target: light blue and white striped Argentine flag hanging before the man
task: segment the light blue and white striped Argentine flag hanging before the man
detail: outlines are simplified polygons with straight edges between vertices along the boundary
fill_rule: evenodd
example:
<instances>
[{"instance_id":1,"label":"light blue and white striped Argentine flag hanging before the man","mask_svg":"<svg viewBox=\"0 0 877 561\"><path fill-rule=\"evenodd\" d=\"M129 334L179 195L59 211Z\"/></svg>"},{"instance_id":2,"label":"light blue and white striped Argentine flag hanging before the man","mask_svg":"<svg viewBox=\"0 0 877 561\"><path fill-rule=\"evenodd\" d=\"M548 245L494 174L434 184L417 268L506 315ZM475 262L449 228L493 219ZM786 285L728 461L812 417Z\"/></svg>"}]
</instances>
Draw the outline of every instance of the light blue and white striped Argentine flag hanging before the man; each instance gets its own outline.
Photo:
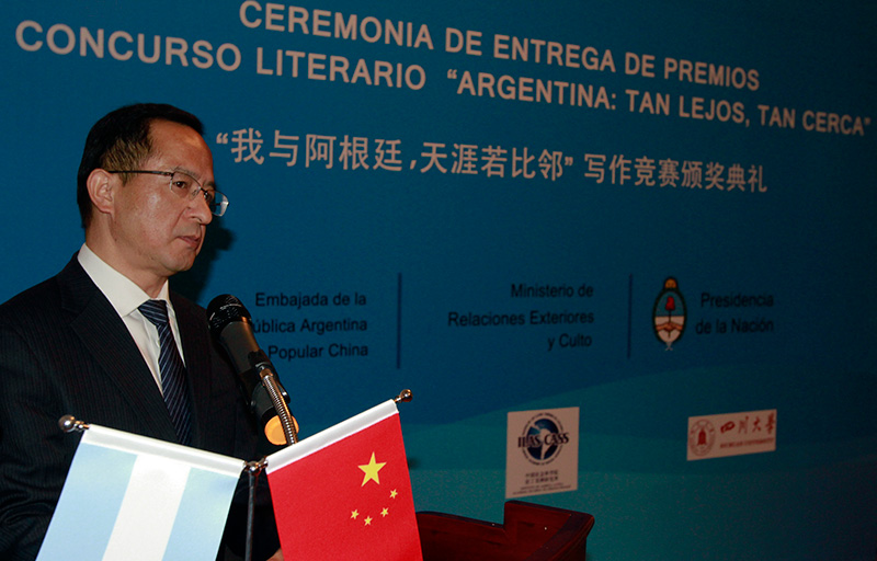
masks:
<instances>
[{"instance_id":1,"label":"light blue and white striped Argentine flag hanging before the man","mask_svg":"<svg viewBox=\"0 0 877 561\"><path fill-rule=\"evenodd\" d=\"M91 425L37 561L215 559L244 466Z\"/></svg>"}]
</instances>

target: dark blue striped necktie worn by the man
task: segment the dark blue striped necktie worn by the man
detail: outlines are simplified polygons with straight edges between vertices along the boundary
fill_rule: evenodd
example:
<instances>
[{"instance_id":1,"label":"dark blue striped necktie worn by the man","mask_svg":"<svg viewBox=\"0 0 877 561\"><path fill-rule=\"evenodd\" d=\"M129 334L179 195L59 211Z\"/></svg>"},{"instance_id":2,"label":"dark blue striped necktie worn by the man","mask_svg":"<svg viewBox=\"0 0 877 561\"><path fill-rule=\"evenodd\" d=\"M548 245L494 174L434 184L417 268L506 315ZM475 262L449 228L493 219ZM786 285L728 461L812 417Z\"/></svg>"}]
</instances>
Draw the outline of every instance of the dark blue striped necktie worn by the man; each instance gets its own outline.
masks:
<instances>
[{"instance_id":1,"label":"dark blue striped necktie worn by the man","mask_svg":"<svg viewBox=\"0 0 877 561\"><path fill-rule=\"evenodd\" d=\"M164 394L164 404L171 415L173 427L176 430L176 438L180 444L190 443L192 421L189 412L189 392L185 383L185 366L180 352L176 350L176 342L173 340L168 320L168 307L164 300L147 300L138 308L155 327L158 329L158 340L161 344L161 352L158 357L158 368L161 374L161 390Z\"/></svg>"}]
</instances>

